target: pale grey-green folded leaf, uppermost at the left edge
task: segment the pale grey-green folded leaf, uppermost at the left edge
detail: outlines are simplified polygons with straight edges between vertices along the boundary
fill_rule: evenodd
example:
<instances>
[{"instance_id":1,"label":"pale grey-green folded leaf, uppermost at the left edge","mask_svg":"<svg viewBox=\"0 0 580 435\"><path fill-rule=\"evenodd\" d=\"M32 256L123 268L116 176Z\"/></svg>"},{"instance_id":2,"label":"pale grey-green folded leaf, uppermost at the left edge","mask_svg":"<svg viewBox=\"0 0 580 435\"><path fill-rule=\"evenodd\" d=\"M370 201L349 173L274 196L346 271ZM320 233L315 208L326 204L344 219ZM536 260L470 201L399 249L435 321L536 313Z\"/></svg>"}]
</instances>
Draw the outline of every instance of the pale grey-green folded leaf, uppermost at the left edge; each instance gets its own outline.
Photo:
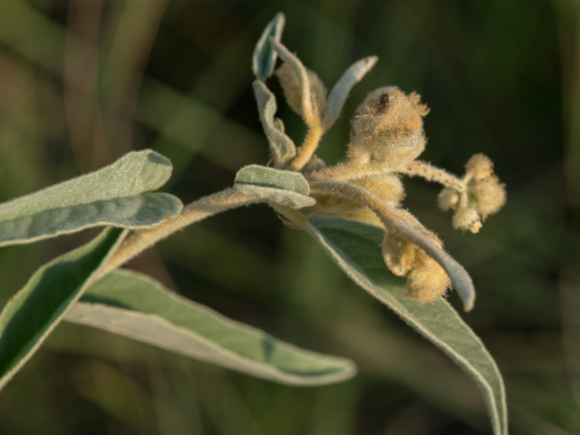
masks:
<instances>
[{"instance_id":1,"label":"pale grey-green folded leaf, uppermost at the left edge","mask_svg":"<svg viewBox=\"0 0 580 435\"><path fill-rule=\"evenodd\" d=\"M159 189L171 162L151 150L130 152L90 174L0 204L0 247L32 243L87 227L147 228L183 205Z\"/></svg>"}]
</instances>

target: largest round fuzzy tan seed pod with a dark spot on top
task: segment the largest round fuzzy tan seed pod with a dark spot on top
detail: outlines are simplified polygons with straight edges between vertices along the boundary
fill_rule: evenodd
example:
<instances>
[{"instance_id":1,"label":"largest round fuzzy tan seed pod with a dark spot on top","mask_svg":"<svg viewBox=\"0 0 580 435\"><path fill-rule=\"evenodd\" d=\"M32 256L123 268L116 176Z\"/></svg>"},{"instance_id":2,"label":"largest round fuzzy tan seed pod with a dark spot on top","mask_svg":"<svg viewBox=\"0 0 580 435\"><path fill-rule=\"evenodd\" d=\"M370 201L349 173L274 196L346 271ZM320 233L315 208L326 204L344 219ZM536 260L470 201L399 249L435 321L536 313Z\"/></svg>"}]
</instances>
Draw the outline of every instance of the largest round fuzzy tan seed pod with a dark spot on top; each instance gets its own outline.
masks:
<instances>
[{"instance_id":1,"label":"largest round fuzzy tan seed pod with a dark spot on top","mask_svg":"<svg viewBox=\"0 0 580 435\"><path fill-rule=\"evenodd\" d=\"M416 159L425 149L422 118L428 112L415 92L407 96L394 86L371 92L353 119L351 158L391 168Z\"/></svg>"}]
</instances>

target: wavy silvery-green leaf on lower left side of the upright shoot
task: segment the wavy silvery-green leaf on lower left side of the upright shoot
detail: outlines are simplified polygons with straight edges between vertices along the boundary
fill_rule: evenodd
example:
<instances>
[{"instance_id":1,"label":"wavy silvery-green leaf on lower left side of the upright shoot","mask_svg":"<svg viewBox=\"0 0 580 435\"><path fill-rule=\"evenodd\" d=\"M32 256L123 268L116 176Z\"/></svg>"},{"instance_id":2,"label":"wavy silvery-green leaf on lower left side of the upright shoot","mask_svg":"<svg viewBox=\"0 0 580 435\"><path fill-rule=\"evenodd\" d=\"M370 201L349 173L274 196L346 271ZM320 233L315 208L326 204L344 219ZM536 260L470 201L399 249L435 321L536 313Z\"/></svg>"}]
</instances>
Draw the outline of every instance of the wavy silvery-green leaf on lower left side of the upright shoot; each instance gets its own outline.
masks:
<instances>
[{"instance_id":1,"label":"wavy silvery-green leaf on lower left side of the upright shoot","mask_svg":"<svg viewBox=\"0 0 580 435\"><path fill-rule=\"evenodd\" d=\"M260 121L264 127L266 138L270 143L270 151L277 165L284 165L296 155L294 142L280 129L280 120L275 118L277 106L275 96L266 83L255 81L254 94L256 95L257 110L260 112ZM284 125L284 124L282 124Z\"/></svg>"}]
</instances>

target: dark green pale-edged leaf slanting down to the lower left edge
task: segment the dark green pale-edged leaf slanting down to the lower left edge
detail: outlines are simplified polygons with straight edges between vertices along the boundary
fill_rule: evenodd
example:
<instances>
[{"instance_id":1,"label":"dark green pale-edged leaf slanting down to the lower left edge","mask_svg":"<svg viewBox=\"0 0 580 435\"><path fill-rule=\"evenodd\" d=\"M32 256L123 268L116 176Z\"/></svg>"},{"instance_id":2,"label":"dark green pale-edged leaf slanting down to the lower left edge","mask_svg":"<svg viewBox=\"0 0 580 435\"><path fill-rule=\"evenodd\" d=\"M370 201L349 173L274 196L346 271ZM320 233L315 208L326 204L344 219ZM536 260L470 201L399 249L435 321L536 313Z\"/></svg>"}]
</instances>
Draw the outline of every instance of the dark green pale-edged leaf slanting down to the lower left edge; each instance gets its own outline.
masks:
<instances>
[{"instance_id":1,"label":"dark green pale-edged leaf slanting down to the lower left edge","mask_svg":"<svg viewBox=\"0 0 580 435\"><path fill-rule=\"evenodd\" d=\"M105 228L91 242L38 269L0 313L0 389L27 362L99 274L129 230Z\"/></svg>"}]
</instances>

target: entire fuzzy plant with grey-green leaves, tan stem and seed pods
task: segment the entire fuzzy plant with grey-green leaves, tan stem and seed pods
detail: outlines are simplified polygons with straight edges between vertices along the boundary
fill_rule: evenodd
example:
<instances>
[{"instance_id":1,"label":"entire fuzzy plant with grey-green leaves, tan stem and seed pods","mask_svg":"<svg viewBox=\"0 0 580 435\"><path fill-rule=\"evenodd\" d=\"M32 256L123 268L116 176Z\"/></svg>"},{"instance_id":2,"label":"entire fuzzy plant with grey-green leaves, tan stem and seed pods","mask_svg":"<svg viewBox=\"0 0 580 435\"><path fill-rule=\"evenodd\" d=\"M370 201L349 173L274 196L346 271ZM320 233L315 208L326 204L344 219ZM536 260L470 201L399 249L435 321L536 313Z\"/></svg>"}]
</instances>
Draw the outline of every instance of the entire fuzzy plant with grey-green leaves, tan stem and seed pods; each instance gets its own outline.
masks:
<instances>
[{"instance_id":1,"label":"entire fuzzy plant with grey-green leaves, tan stem and seed pods","mask_svg":"<svg viewBox=\"0 0 580 435\"><path fill-rule=\"evenodd\" d=\"M447 353L477 382L495 434L507 434L498 367L478 337L442 297L457 290L473 308L471 278L439 237L401 208L401 175L439 182L439 206L453 226L477 233L506 200L488 157L477 154L455 177L417 160L425 148L428 107L394 86L371 92L357 109L345 159L327 166L315 155L348 93L376 57L354 63L328 93L315 73L280 43L284 15L266 26L253 58L254 91L270 144L268 166L238 171L233 188L183 208L154 193L169 160L145 150L109 167L0 205L0 247L105 226L90 243L41 267L0 314L0 388L61 320L87 324L275 382L321 385L356 371L353 362L296 348L174 295L150 277L117 270L160 239L230 208L266 203L291 227L306 231L371 295ZM275 70L277 57L282 65ZM307 134L295 147L275 118L275 73Z\"/></svg>"}]
</instances>

